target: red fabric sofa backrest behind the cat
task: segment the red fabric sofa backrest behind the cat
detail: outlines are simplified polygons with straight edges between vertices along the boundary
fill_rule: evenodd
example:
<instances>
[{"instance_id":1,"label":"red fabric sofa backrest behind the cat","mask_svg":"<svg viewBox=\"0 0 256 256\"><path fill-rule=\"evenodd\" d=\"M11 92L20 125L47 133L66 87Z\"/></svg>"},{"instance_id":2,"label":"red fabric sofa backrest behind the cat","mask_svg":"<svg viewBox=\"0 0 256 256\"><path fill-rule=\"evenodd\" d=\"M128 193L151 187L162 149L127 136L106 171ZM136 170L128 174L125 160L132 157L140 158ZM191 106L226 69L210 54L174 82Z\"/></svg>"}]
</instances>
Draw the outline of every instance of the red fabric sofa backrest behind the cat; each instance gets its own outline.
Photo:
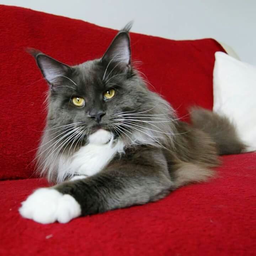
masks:
<instances>
[{"instance_id":1,"label":"red fabric sofa backrest behind the cat","mask_svg":"<svg viewBox=\"0 0 256 256\"><path fill-rule=\"evenodd\" d=\"M101 57L117 31L20 7L0 6L0 179L29 178L44 127L48 85L26 47L73 65ZM186 118L187 106L212 108L213 39L173 41L131 33L142 77ZM146 78L145 78L146 79Z\"/></svg>"}]
</instances>

